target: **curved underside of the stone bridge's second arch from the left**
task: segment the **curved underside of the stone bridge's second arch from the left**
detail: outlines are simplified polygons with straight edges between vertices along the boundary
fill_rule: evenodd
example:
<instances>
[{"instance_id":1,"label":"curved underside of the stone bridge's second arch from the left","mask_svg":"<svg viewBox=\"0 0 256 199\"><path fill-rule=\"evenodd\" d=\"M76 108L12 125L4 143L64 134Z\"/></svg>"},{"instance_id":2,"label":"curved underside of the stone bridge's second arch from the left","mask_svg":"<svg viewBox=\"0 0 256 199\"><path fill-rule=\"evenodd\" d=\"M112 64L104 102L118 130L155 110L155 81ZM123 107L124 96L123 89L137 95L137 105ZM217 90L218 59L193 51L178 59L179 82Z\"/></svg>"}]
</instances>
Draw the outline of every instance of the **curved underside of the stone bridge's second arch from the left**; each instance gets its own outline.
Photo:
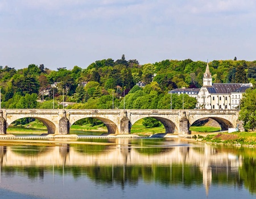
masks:
<instances>
[{"instance_id":1,"label":"curved underside of the stone bridge's second arch from the left","mask_svg":"<svg viewBox=\"0 0 256 199\"><path fill-rule=\"evenodd\" d=\"M108 129L108 134L115 134L117 132L117 125L110 119L108 118L103 118L103 117L97 117L97 116L84 116L84 117L77 117L76 119L72 119L72 121L69 121L70 123L70 127L77 121L79 121L80 119L85 119L85 118L93 118L93 119L98 119L101 122L104 123L104 125L106 125L107 129Z\"/></svg>"}]
</instances>

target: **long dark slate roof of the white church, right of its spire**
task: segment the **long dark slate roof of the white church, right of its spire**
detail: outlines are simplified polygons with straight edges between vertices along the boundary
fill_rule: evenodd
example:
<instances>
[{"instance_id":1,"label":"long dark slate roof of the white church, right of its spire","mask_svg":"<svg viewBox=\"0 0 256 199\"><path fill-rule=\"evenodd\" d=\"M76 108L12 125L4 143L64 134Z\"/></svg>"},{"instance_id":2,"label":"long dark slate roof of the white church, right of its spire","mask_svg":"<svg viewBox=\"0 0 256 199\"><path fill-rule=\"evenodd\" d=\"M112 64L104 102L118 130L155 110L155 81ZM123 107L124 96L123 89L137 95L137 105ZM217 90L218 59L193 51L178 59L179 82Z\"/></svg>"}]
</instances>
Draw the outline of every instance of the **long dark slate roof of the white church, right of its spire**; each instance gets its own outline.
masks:
<instances>
[{"instance_id":1,"label":"long dark slate roof of the white church, right of its spire","mask_svg":"<svg viewBox=\"0 0 256 199\"><path fill-rule=\"evenodd\" d=\"M213 84L207 87L209 93L245 93L250 88L249 84Z\"/></svg>"}]
</instances>

